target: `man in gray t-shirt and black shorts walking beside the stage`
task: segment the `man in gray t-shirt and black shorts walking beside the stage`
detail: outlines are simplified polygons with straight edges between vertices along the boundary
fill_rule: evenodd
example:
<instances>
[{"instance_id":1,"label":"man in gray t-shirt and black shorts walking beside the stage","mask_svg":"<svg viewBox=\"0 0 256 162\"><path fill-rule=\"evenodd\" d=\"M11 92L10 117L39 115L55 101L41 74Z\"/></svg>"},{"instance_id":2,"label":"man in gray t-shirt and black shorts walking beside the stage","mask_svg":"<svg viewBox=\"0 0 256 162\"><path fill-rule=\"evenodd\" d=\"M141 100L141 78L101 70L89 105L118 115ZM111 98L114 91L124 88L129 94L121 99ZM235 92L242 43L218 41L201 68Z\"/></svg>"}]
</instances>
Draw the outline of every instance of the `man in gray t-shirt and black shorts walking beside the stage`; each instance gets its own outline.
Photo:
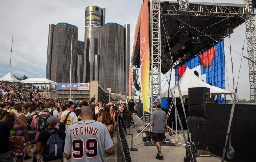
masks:
<instances>
[{"instance_id":1,"label":"man in gray t-shirt and black shorts walking beside the stage","mask_svg":"<svg viewBox=\"0 0 256 162\"><path fill-rule=\"evenodd\" d=\"M150 125L149 132L153 132L155 138L153 139L155 145L157 146L157 156L156 159L163 160L163 155L161 152L161 145L165 132L168 132L167 127L167 116L166 113L161 110L161 103L158 102L155 104L156 110L154 110L150 115ZM153 128L151 128L153 125Z\"/></svg>"}]
</instances>

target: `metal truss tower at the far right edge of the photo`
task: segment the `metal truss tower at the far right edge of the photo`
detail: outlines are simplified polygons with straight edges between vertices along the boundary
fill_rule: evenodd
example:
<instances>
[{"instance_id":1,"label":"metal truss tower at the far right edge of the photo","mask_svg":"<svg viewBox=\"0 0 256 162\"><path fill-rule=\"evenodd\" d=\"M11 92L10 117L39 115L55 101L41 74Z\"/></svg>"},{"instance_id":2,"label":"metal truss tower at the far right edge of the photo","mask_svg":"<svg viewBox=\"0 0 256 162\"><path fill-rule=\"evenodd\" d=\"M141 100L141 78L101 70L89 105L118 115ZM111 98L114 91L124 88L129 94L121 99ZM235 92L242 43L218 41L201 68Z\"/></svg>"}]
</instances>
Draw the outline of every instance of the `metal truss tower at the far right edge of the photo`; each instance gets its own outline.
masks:
<instances>
[{"instance_id":1,"label":"metal truss tower at the far right edge of the photo","mask_svg":"<svg viewBox=\"0 0 256 162\"><path fill-rule=\"evenodd\" d=\"M252 0L244 0L248 8L248 19L245 22L246 40L247 40L247 53L248 58L256 62L256 35L255 35L255 8L252 6ZM255 70L256 64L248 60L249 64L249 84L251 103L256 103L256 78Z\"/></svg>"}]
</instances>

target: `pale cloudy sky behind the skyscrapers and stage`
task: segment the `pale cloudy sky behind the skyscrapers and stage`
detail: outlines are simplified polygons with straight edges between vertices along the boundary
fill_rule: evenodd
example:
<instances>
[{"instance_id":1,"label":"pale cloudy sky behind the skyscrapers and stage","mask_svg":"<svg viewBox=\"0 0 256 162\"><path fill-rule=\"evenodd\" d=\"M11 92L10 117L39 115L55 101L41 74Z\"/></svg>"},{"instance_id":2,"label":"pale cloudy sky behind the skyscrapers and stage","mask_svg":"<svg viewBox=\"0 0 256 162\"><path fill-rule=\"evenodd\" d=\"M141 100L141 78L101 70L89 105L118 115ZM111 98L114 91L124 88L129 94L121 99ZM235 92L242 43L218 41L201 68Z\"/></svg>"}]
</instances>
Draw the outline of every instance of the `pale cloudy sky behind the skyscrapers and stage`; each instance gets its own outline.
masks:
<instances>
[{"instance_id":1,"label":"pale cloudy sky behind the skyscrapers and stage","mask_svg":"<svg viewBox=\"0 0 256 162\"><path fill-rule=\"evenodd\" d=\"M196 0L194 0L196 1ZM201 0L201 2L214 2ZM217 0L217 2L221 2ZM243 0L226 0L225 3L243 3ZM54 0L54 1L5 1L0 0L0 77L9 71L11 36L14 35L11 72L16 76L45 77L48 27L50 23L66 22L78 27L78 40L84 39L85 8L90 5L106 8L106 23L129 23L130 51L132 52L134 29L141 0ZM242 54L245 37L245 24L234 30L231 36L231 48ZM224 44L229 46L226 38ZM247 47L243 52L247 56ZM241 56L232 52L235 85L237 83ZM227 78L230 89L233 88L230 50L225 47ZM164 78L164 76L162 76ZM163 84L165 80L163 80ZM171 87L174 80L171 81ZM232 88L231 88L232 87ZM167 84L162 86L167 90ZM238 83L238 98L250 99L248 61L242 59Z\"/></svg>"}]
</instances>

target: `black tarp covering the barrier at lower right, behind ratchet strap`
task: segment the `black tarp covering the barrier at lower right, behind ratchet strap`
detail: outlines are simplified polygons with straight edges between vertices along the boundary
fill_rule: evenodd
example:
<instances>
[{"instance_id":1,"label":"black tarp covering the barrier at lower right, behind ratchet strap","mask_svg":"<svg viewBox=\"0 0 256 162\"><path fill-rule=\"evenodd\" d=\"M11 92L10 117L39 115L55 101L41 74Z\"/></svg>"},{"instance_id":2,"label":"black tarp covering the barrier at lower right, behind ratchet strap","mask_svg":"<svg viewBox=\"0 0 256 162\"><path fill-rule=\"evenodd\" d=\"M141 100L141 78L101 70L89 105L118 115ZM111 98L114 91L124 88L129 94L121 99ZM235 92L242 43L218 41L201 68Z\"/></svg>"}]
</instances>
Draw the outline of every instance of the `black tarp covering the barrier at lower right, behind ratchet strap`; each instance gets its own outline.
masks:
<instances>
[{"instance_id":1,"label":"black tarp covering the barrier at lower right, behind ratchet strap","mask_svg":"<svg viewBox=\"0 0 256 162\"><path fill-rule=\"evenodd\" d=\"M208 151L222 157L232 104L207 103ZM256 105L235 104L231 124L231 145L235 155L230 162L256 161ZM228 146L229 144L227 144Z\"/></svg>"}]
</instances>

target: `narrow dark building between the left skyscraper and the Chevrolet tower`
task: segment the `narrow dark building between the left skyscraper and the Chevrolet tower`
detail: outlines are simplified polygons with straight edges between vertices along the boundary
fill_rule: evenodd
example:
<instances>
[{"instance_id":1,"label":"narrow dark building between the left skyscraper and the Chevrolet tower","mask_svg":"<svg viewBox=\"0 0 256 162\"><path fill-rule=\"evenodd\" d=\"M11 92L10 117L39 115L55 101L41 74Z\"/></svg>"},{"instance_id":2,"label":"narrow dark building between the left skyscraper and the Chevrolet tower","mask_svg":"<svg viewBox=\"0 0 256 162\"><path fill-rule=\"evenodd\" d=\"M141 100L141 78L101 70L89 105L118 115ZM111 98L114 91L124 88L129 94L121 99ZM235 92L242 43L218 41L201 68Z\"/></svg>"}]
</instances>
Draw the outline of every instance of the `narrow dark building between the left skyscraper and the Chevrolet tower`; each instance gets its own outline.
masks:
<instances>
[{"instance_id":1,"label":"narrow dark building between the left skyscraper and the Chevrolet tower","mask_svg":"<svg viewBox=\"0 0 256 162\"><path fill-rule=\"evenodd\" d=\"M77 61L76 61L76 82L83 82L83 61L85 42L78 40Z\"/></svg>"}]
</instances>

